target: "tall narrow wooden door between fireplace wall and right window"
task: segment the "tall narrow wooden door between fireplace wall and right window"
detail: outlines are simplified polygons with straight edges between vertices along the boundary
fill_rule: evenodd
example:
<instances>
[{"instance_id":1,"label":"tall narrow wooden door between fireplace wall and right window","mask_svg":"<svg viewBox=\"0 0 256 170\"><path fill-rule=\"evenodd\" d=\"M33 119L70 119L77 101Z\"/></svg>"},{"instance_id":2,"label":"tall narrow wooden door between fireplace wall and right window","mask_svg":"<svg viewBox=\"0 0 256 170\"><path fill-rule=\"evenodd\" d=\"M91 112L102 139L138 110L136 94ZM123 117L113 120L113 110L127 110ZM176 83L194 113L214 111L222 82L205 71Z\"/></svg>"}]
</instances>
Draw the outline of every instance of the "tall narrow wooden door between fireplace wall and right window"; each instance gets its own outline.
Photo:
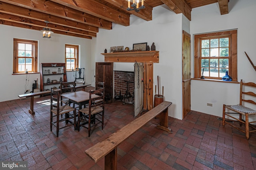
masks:
<instances>
[{"instance_id":1,"label":"tall narrow wooden door between fireplace wall and right window","mask_svg":"<svg viewBox=\"0 0 256 170\"><path fill-rule=\"evenodd\" d=\"M190 34L183 31L182 34L182 110L184 118L191 109L190 99Z\"/></svg>"}]
</instances>

